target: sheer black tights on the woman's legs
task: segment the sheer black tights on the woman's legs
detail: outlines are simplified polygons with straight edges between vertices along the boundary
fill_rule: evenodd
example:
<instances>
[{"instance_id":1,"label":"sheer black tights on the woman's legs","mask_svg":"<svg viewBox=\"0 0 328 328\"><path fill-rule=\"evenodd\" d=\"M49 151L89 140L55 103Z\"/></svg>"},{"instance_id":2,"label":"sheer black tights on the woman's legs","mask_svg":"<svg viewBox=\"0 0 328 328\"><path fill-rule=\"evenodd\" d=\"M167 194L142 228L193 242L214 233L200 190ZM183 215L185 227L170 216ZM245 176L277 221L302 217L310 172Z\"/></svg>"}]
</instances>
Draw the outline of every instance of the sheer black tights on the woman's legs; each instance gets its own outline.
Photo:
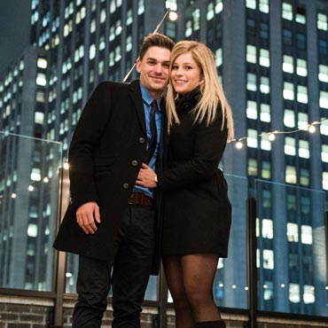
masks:
<instances>
[{"instance_id":1,"label":"sheer black tights on the woman's legs","mask_svg":"<svg viewBox=\"0 0 328 328\"><path fill-rule=\"evenodd\" d=\"M221 320L212 289L218 261L215 254L168 256L163 260L176 310L176 328Z\"/></svg>"}]
</instances>

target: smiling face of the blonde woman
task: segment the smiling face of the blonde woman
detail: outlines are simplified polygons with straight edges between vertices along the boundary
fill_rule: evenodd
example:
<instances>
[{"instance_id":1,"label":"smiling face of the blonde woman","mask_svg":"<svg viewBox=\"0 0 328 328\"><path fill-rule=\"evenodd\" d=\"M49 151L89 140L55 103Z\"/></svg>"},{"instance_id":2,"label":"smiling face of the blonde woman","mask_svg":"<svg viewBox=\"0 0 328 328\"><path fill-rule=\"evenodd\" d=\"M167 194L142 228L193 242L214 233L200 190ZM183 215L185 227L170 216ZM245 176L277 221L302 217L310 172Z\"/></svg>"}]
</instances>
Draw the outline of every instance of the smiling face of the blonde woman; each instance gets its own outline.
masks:
<instances>
[{"instance_id":1,"label":"smiling face of the blonde woman","mask_svg":"<svg viewBox=\"0 0 328 328\"><path fill-rule=\"evenodd\" d=\"M177 93L184 95L199 86L200 69L191 52L176 58L172 65L171 82Z\"/></svg>"}]
</instances>

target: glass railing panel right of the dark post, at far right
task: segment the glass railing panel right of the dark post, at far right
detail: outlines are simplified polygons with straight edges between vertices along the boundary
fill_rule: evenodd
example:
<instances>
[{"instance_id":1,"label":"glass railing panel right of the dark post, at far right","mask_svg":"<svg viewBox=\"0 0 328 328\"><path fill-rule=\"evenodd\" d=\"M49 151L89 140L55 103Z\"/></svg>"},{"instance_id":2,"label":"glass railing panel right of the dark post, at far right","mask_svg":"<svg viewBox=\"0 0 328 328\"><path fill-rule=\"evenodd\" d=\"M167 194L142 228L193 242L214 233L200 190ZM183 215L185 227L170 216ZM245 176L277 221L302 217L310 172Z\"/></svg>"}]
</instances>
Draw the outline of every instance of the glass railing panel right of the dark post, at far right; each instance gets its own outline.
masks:
<instances>
[{"instance_id":1,"label":"glass railing panel right of the dark post, at far right","mask_svg":"<svg viewBox=\"0 0 328 328\"><path fill-rule=\"evenodd\" d=\"M258 308L328 316L324 191L255 181Z\"/></svg>"}]
</instances>

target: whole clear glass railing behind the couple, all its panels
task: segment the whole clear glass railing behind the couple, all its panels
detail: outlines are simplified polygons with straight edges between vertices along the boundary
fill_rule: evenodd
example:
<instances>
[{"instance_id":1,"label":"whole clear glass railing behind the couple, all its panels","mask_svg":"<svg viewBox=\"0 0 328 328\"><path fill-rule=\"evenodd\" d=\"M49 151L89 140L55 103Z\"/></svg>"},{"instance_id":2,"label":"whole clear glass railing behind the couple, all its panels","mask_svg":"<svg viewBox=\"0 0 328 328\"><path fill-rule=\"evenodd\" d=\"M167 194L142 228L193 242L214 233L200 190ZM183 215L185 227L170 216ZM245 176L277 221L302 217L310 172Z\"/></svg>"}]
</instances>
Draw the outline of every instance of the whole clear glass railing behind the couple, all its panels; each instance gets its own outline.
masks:
<instances>
[{"instance_id":1,"label":"whole clear glass railing behind the couple, all its panels","mask_svg":"<svg viewBox=\"0 0 328 328\"><path fill-rule=\"evenodd\" d=\"M56 289L52 248L59 217L61 144L0 134L0 288ZM219 307L249 309L246 200L256 200L258 309L327 316L324 192L225 175L232 205L227 259L213 286ZM68 185L63 184L68 190ZM61 195L67 198L68 192ZM61 202L59 201L61 200ZM220 236L218 236L220 238ZM59 267L60 270L60 267ZM75 293L78 257L66 254L66 293ZM55 284L53 282L55 281ZM151 277L146 301L159 301ZM168 301L172 301L168 296Z\"/></svg>"}]
</instances>

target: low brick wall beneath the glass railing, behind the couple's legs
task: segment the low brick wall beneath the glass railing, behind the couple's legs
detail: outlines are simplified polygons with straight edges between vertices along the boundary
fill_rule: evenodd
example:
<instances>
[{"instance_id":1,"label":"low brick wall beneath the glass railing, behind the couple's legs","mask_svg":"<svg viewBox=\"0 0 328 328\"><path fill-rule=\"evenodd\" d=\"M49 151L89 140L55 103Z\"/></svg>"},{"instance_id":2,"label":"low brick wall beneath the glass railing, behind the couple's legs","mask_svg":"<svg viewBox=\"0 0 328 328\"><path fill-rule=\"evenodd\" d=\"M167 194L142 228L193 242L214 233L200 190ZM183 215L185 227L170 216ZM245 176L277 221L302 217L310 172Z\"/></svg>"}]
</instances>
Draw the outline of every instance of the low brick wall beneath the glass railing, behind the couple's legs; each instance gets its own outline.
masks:
<instances>
[{"instance_id":1,"label":"low brick wall beneath the glass railing, behind the couple's legs","mask_svg":"<svg viewBox=\"0 0 328 328\"><path fill-rule=\"evenodd\" d=\"M63 326L72 324L74 300L64 301ZM11 296L0 294L0 328L51 328L54 301L47 298ZM141 315L142 328L156 328L157 308L144 307ZM241 314L223 313L228 328L245 328L248 317ZM109 305L103 319L102 328L110 328L113 320ZM309 322L279 317L259 317L258 328L328 328L327 322ZM174 311L168 309L168 328L175 328Z\"/></svg>"}]
</instances>

